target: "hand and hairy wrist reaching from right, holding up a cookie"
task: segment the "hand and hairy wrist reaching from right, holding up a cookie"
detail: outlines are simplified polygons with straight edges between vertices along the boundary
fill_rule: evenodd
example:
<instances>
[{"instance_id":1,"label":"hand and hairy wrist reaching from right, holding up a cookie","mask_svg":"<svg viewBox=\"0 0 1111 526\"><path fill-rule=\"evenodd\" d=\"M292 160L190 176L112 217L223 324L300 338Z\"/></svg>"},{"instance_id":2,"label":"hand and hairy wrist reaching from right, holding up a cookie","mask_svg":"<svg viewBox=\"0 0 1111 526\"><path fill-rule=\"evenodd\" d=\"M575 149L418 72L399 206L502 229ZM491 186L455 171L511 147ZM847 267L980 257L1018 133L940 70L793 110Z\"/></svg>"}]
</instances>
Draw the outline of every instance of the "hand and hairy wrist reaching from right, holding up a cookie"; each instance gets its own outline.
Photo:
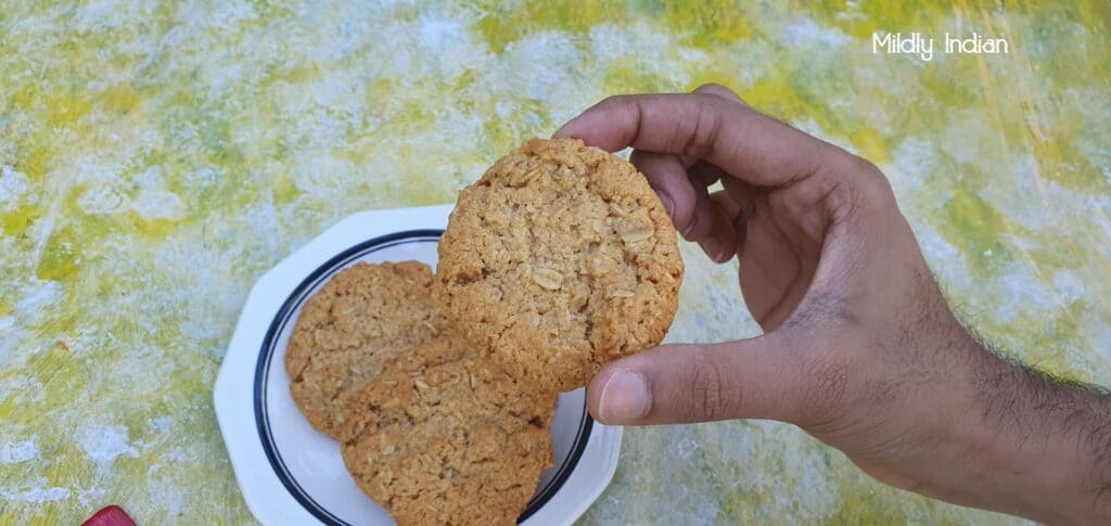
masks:
<instances>
[{"instance_id":1,"label":"hand and hairy wrist reaching from right, holding up a cookie","mask_svg":"<svg viewBox=\"0 0 1111 526\"><path fill-rule=\"evenodd\" d=\"M778 419L897 487L1043 520L1111 519L1111 403L982 348L871 163L720 85L610 98L556 135L632 146L682 235L717 262L739 257L764 331L609 364L588 387L595 418Z\"/></svg>"}]
</instances>

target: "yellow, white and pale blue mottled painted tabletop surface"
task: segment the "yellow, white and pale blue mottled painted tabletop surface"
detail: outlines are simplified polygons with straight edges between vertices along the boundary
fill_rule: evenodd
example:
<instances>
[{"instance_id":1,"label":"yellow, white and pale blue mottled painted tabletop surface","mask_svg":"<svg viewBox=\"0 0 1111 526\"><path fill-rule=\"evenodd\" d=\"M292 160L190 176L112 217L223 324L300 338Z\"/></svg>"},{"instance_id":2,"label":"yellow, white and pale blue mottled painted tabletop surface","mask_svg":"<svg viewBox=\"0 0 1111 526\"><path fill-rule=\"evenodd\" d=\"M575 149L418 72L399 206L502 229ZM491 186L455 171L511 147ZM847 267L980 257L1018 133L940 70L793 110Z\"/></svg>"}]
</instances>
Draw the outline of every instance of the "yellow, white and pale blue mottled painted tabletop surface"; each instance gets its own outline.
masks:
<instances>
[{"instance_id":1,"label":"yellow, white and pale blue mottled painted tabletop surface","mask_svg":"<svg viewBox=\"0 0 1111 526\"><path fill-rule=\"evenodd\" d=\"M1111 383L1104 1L40 3L0 1L0 523L250 522L211 387L258 275L352 212L452 201L607 94L705 81L883 168L989 341ZM1012 53L873 55L873 30ZM684 255L669 340L755 334L731 270ZM584 517L738 520L1011 519L759 422L629 429Z\"/></svg>"}]
</instances>

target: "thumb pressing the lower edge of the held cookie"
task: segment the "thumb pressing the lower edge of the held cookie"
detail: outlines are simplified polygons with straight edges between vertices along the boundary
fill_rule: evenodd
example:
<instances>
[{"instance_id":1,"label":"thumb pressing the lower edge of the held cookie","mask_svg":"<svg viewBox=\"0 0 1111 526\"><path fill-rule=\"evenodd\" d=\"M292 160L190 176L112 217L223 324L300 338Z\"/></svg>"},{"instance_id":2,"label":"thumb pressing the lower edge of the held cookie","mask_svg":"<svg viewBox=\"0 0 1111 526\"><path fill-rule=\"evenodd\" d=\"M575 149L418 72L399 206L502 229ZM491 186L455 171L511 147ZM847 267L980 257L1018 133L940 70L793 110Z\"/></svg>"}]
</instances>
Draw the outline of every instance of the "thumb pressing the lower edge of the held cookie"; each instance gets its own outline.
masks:
<instances>
[{"instance_id":1,"label":"thumb pressing the lower edge of the held cookie","mask_svg":"<svg viewBox=\"0 0 1111 526\"><path fill-rule=\"evenodd\" d=\"M603 424L769 418L803 408L801 353L781 332L711 345L663 345L608 364L587 387Z\"/></svg>"}]
</instances>

